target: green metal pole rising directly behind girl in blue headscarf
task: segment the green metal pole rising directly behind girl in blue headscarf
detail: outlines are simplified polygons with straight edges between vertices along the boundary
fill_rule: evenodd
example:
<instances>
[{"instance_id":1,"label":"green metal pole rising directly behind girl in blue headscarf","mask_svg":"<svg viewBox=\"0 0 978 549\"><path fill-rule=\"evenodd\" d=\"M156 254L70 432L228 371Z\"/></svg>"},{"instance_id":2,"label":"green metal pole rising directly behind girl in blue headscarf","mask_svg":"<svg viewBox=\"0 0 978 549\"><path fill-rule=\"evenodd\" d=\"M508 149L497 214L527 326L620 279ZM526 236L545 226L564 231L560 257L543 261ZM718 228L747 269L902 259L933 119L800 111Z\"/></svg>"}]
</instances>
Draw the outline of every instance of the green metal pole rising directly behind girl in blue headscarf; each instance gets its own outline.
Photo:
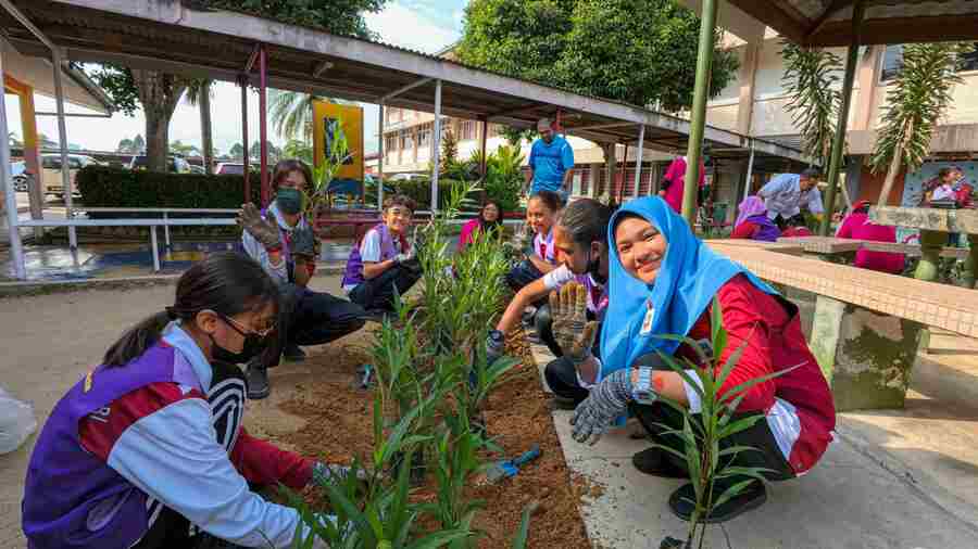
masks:
<instances>
[{"instance_id":1,"label":"green metal pole rising directly behind girl in blue headscarf","mask_svg":"<svg viewBox=\"0 0 978 549\"><path fill-rule=\"evenodd\" d=\"M686 178L682 188L682 217L690 227L697 218L697 191L700 181L700 155L703 152L703 126L706 124L706 95L713 64L713 29L718 0L703 0L700 13L700 48L697 52L697 84L689 120L689 146L686 150Z\"/></svg>"}]
</instances>

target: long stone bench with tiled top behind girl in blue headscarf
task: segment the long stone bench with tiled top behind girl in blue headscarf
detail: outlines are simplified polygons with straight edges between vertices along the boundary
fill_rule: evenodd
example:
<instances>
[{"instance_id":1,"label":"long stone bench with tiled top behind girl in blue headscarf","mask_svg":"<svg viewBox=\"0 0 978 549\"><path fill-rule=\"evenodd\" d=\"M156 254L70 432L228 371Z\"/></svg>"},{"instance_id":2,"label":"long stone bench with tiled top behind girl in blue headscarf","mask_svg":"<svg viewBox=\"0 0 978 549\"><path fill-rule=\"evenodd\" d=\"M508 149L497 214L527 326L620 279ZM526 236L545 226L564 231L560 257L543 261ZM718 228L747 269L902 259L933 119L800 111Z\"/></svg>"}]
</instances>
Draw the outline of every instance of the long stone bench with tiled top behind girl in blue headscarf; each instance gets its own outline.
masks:
<instances>
[{"instance_id":1,"label":"long stone bench with tiled top behind girl in blue headscarf","mask_svg":"<svg viewBox=\"0 0 978 549\"><path fill-rule=\"evenodd\" d=\"M926 327L978 337L974 290L758 247L713 247L803 309L808 345L839 411L902 408Z\"/></svg>"}]
</instances>

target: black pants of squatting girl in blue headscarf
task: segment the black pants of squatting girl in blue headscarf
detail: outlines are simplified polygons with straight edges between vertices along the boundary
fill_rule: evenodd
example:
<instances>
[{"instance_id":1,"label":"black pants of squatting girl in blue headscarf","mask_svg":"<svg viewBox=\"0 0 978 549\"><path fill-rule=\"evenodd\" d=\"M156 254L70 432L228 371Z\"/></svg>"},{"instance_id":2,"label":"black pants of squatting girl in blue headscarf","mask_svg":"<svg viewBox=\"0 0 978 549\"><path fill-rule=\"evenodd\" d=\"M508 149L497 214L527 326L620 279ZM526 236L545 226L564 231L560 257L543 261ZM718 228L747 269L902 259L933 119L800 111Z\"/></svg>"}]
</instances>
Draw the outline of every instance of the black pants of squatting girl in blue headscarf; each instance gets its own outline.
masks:
<instances>
[{"instance_id":1,"label":"black pants of squatting girl in blue headscarf","mask_svg":"<svg viewBox=\"0 0 978 549\"><path fill-rule=\"evenodd\" d=\"M640 357L635 366L645 366L654 370L673 371L672 368L663 363L662 359L654 354ZM649 433L649 436L652 439L663 446L674 448L680 454L686 452L682 439L679 438L678 435L666 434L668 430L682 429L681 413L662 403L652 405L632 403L629 405L629 409L631 410L631 413L638 418L642 427L645 429L645 432ZM731 421L736 421L739 417L745 416L748 414L735 414ZM794 471L791 469L788 460L785 459L781 449L778 448L778 443L775 441L774 433L770 432L767 421L762 419L754 423L750 429L735 433L719 443L720 450L731 446L748 446L757 450L738 452L731 464L737 467L769 469L769 472L764 473L764 476L767 477L768 481L786 481L794 477ZM680 460L672 454L665 454L669 461L676 467L681 468L684 471L688 470L686 461ZM726 464L727 463L722 463L719 467Z\"/></svg>"}]
</instances>

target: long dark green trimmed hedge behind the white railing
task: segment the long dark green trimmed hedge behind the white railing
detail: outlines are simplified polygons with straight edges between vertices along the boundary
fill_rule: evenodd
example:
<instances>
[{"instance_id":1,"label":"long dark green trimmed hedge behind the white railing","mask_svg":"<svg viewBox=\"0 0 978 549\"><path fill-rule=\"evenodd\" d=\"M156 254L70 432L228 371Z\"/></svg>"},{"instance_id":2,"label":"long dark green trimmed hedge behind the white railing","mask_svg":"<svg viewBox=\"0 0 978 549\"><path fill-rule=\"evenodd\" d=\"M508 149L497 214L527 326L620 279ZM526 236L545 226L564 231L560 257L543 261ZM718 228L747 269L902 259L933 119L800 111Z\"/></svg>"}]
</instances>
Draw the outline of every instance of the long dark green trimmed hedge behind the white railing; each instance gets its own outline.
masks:
<instances>
[{"instance_id":1,"label":"long dark green trimmed hedge behind the white railing","mask_svg":"<svg viewBox=\"0 0 978 549\"><path fill-rule=\"evenodd\" d=\"M244 177L239 175L163 174L86 166L78 171L75 183L82 203L89 207L238 208L244 202ZM253 178L251 201L258 203L260 194L259 178ZM92 213L90 217L126 216Z\"/></svg>"}]
</instances>

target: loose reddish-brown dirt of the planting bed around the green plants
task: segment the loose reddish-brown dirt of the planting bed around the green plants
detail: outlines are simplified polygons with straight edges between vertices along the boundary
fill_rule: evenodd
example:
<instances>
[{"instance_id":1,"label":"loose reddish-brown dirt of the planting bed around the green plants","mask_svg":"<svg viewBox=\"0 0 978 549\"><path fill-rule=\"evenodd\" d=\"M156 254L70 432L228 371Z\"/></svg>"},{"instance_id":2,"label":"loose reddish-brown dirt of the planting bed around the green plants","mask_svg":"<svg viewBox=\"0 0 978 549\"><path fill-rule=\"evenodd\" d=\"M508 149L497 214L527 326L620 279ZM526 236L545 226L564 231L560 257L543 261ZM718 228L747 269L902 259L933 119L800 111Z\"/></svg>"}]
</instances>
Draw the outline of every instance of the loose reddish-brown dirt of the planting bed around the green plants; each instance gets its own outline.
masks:
<instances>
[{"instance_id":1,"label":"loose reddish-brown dirt of the planting bed around the green plants","mask_svg":"<svg viewBox=\"0 0 978 549\"><path fill-rule=\"evenodd\" d=\"M485 412L489 433L507 457L522 454L534 444L540 445L541 456L499 485L471 487L469 497L486 501L474 523L485 533L478 547L507 547L524 507L536 500L539 507L530 522L529 547L590 548L577 508L588 489L570 483L549 398L540 386L522 333L511 337L509 346L512 355L524 357L524 365L490 396ZM368 348L334 344L325 353L311 356L303 366L315 375L296 385L291 398L277 405L288 417L301 420L293 422L292 429L269 432L272 438L284 447L330 462L348 463L354 455L372 451L372 394L355 387L356 369L369 361ZM422 488L417 496L425 498L426 491ZM305 495L308 500L318 496L315 491Z\"/></svg>"}]
</instances>

